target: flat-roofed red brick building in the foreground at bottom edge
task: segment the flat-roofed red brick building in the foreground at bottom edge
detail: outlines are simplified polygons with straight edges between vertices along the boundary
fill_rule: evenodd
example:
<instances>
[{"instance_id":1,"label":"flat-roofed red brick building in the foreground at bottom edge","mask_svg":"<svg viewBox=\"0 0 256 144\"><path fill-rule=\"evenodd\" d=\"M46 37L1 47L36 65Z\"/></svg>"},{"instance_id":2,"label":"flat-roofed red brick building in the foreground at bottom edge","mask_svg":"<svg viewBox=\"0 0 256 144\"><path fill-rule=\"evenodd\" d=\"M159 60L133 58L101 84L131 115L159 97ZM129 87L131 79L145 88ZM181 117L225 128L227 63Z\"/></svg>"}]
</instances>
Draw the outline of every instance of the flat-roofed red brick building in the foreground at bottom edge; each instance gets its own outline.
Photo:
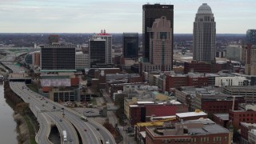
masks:
<instances>
[{"instance_id":1,"label":"flat-roofed red brick building in the foreground at bottom edge","mask_svg":"<svg viewBox=\"0 0 256 144\"><path fill-rule=\"evenodd\" d=\"M146 144L162 143L230 144L230 131L208 118L175 123L175 125L164 127L146 127Z\"/></svg>"}]
</instances>

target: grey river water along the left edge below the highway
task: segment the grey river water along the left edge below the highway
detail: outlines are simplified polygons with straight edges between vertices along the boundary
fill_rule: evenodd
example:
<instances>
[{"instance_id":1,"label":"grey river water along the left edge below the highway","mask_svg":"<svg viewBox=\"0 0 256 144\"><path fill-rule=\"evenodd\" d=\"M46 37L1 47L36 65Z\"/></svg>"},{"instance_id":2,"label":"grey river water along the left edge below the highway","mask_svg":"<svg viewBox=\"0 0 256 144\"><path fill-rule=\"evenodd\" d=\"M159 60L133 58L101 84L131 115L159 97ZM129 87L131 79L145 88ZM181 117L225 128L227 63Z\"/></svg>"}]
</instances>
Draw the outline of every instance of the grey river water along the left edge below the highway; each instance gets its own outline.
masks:
<instances>
[{"instance_id":1,"label":"grey river water along the left edge below the highway","mask_svg":"<svg viewBox=\"0 0 256 144\"><path fill-rule=\"evenodd\" d=\"M0 82L0 143L18 143L16 136L16 122L13 118L14 110L4 98L3 83Z\"/></svg>"}]
</instances>

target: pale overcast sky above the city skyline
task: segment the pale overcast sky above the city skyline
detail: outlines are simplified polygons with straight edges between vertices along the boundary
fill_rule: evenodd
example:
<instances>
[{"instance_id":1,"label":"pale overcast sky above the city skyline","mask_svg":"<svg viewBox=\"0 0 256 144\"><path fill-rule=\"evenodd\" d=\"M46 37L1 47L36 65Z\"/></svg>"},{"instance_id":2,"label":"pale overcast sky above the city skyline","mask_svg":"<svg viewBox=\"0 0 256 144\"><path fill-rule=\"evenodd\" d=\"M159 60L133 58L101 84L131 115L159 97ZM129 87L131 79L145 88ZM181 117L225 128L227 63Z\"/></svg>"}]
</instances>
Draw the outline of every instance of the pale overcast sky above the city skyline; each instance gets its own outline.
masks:
<instances>
[{"instance_id":1,"label":"pale overcast sky above the city skyline","mask_svg":"<svg viewBox=\"0 0 256 144\"><path fill-rule=\"evenodd\" d=\"M0 33L142 33L142 5L174 5L174 34L192 34L207 3L218 34L256 29L255 0L0 0Z\"/></svg>"}]
</instances>

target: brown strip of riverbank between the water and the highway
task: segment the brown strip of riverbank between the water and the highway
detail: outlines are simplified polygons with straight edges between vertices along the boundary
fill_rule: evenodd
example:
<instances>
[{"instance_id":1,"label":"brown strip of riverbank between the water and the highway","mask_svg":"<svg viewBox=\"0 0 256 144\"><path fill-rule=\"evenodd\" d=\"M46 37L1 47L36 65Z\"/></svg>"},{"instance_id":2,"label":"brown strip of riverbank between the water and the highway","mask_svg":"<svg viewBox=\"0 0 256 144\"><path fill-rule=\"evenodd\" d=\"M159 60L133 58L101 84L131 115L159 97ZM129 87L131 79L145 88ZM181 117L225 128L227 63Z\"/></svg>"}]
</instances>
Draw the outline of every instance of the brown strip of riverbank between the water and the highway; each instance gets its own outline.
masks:
<instances>
[{"instance_id":1,"label":"brown strip of riverbank between the water and the highway","mask_svg":"<svg viewBox=\"0 0 256 144\"><path fill-rule=\"evenodd\" d=\"M13 106L14 120L17 123L18 144L36 144L35 135L39 129L37 118L29 108L29 104L22 101L9 86L9 82L4 83L5 98Z\"/></svg>"}]
</instances>

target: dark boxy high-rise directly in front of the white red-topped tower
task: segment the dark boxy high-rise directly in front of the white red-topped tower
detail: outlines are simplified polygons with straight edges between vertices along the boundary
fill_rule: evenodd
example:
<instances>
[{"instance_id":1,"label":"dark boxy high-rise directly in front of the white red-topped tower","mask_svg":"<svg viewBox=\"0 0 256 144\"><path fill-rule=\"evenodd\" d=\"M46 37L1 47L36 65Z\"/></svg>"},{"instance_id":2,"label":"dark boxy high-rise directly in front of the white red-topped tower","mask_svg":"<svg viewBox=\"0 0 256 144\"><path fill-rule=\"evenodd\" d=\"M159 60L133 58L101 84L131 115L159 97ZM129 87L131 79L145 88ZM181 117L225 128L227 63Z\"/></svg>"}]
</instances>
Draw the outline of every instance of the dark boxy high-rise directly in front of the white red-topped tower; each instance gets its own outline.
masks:
<instances>
[{"instance_id":1,"label":"dark boxy high-rise directly in front of the white red-topped tower","mask_svg":"<svg viewBox=\"0 0 256 144\"><path fill-rule=\"evenodd\" d=\"M106 64L106 39L90 38L89 39L90 67L96 64Z\"/></svg>"}]
</instances>

